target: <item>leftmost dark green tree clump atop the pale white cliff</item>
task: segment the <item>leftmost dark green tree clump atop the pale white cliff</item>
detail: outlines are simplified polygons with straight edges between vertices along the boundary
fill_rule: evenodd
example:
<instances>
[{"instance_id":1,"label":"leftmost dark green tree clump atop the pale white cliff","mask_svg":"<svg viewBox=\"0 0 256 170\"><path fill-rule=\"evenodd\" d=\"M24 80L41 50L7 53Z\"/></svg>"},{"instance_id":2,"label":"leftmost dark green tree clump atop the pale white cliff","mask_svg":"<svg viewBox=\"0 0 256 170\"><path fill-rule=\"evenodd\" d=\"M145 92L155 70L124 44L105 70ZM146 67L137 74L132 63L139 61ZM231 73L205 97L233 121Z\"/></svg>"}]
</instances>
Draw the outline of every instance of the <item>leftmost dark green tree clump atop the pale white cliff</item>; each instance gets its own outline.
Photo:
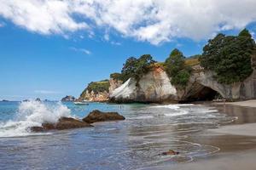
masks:
<instances>
[{"instance_id":1,"label":"leftmost dark green tree clump atop the pale white cliff","mask_svg":"<svg viewBox=\"0 0 256 170\"><path fill-rule=\"evenodd\" d=\"M154 63L155 61L150 54L144 54L139 59L135 57L126 59L121 71L122 80L125 82L130 77L134 77L138 81L143 74L149 71L150 65Z\"/></svg>"}]
</instances>

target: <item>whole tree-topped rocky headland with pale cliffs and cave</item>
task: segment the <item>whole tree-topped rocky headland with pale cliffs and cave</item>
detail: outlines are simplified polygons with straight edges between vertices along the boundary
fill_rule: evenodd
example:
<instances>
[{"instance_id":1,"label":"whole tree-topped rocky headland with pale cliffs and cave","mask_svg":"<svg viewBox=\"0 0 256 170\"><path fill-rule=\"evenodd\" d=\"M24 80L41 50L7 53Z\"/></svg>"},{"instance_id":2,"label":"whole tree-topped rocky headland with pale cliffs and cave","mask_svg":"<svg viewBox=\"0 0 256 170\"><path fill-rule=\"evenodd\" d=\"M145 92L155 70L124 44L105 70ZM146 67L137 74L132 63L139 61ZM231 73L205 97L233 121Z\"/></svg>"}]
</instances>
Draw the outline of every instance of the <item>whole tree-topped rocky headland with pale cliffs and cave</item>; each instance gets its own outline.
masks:
<instances>
[{"instance_id":1,"label":"whole tree-topped rocky headland with pale cliffs and cave","mask_svg":"<svg viewBox=\"0 0 256 170\"><path fill-rule=\"evenodd\" d=\"M218 34L202 54L188 58L177 48L165 62L155 61L150 54L130 57L121 73L90 82L79 100L162 103L255 99L255 47L244 29L238 36Z\"/></svg>"}]
</instances>

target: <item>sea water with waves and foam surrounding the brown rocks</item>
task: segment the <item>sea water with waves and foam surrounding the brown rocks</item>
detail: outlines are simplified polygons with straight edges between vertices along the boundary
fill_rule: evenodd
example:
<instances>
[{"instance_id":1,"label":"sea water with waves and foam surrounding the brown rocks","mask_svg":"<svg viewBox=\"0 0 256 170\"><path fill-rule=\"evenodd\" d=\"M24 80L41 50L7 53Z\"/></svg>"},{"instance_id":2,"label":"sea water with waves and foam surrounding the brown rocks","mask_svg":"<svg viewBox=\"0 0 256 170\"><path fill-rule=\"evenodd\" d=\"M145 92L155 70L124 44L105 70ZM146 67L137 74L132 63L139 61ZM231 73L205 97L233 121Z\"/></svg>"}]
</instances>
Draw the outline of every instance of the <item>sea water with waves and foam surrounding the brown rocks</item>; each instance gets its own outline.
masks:
<instances>
[{"instance_id":1,"label":"sea water with waves and foam surrounding the brown rocks","mask_svg":"<svg viewBox=\"0 0 256 170\"><path fill-rule=\"evenodd\" d=\"M83 118L90 111L118 111L125 121L101 122L49 133L27 127L60 116ZM147 169L211 156L216 146L195 144L189 135L234 117L204 105L73 105L60 102L0 102L1 169ZM178 156L159 156L166 150Z\"/></svg>"}]
</instances>

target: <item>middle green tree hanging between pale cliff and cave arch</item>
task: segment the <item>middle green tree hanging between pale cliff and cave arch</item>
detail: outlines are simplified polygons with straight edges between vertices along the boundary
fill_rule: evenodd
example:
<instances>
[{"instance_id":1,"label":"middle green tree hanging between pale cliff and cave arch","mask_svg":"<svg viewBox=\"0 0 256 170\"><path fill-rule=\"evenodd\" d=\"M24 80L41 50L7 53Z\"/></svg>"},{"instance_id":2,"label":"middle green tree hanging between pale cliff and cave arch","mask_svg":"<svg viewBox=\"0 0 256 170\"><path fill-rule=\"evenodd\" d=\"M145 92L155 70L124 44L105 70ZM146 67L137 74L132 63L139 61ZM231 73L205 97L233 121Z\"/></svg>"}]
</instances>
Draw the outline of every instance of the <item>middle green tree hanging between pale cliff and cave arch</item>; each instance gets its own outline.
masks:
<instances>
[{"instance_id":1,"label":"middle green tree hanging between pale cliff and cave arch","mask_svg":"<svg viewBox=\"0 0 256 170\"><path fill-rule=\"evenodd\" d=\"M190 67L185 65L185 57L177 48L173 49L165 62L165 70L177 88L185 88L189 82Z\"/></svg>"}]
</instances>

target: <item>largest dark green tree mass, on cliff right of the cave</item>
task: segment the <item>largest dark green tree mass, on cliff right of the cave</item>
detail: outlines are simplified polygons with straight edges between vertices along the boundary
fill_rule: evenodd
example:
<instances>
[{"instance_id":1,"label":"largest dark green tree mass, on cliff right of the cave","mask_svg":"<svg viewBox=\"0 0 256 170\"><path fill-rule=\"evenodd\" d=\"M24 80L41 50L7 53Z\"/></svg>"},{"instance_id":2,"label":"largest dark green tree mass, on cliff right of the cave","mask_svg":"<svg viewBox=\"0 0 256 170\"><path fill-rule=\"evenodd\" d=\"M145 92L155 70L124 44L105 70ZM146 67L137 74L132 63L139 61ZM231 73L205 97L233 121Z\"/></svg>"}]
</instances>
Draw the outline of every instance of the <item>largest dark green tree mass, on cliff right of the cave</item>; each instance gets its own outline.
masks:
<instances>
[{"instance_id":1,"label":"largest dark green tree mass, on cliff right of the cave","mask_svg":"<svg viewBox=\"0 0 256 170\"><path fill-rule=\"evenodd\" d=\"M255 42L247 29L237 37L218 34L209 40L200 57L201 66L214 71L218 82L230 84L252 73L251 56Z\"/></svg>"}]
</instances>

